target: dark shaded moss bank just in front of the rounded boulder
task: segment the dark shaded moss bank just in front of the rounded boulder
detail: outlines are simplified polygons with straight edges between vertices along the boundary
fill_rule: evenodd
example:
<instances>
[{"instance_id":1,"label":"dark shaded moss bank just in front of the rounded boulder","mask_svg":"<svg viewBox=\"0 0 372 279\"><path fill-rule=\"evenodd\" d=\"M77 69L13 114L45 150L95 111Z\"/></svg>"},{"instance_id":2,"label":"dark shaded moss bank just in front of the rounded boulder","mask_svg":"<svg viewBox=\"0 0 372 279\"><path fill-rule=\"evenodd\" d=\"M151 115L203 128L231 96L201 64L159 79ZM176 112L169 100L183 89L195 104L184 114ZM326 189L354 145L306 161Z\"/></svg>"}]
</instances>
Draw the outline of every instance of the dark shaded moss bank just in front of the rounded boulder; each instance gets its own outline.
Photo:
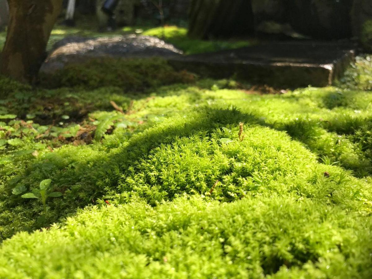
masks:
<instances>
[{"instance_id":1,"label":"dark shaded moss bank just in front of the rounded boulder","mask_svg":"<svg viewBox=\"0 0 372 279\"><path fill-rule=\"evenodd\" d=\"M192 74L185 71L176 72L160 58L96 58L84 63L68 64L62 70L41 76L41 86L78 86L85 89L116 86L121 87L123 91L136 92L149 87L193 80Z\"/></svg>"}]
</instances>

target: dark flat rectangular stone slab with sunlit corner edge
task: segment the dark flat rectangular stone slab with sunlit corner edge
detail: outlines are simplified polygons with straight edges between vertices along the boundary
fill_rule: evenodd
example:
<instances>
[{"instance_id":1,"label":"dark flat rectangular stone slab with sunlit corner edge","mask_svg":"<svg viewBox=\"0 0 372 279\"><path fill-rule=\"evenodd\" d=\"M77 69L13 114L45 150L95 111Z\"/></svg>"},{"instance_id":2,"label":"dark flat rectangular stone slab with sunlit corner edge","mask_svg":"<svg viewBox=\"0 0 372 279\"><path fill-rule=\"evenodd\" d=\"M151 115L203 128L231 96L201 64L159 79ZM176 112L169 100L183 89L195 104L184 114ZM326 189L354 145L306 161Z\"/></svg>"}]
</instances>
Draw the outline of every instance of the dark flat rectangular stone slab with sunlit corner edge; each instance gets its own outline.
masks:
<instances>
[{"instance_id":1,"label":"dark flat rectangular stone slab with sunlit corner edge","mask_svg":"<svg viewBox=\"0 0 372 279\"><path fill-rule=\"evenodd\" d=\"M172 57L177 70L204 77L231 76L278 87L323 87L342 76L355 58L354 45L329 42L267 42L252 47Z\"/></svg>"}]
</instances>

